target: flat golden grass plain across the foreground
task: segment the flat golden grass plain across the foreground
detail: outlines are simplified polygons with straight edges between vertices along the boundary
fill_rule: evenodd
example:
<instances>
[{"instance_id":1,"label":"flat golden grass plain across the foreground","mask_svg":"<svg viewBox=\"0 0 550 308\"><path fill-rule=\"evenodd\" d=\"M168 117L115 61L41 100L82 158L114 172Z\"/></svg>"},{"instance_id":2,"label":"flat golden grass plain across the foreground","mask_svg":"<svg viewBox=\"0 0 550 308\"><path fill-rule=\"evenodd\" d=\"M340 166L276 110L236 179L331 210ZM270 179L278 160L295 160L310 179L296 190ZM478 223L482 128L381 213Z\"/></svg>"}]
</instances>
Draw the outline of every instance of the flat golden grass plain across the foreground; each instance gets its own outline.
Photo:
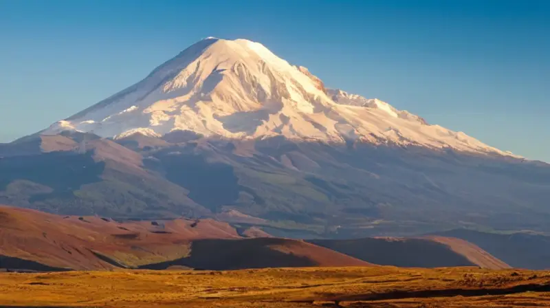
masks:
<instances>
[{"instance_id":1,"label":"flat golden grass plain across the foreground","mask_svg":"<svg viewBox=\"0 0 550 308\"><path fill-rule=\"evenodd\" d=\"M550 306L550 292L493 296L456 296L452 292L492 292L518 286L533 289L549 283L550 272L469 267L4 273L0 274L0 305L334 307L336 300L342 307L540 307ZM439 294L441 290L451 293Z\"/></svg>"}]
</instances>

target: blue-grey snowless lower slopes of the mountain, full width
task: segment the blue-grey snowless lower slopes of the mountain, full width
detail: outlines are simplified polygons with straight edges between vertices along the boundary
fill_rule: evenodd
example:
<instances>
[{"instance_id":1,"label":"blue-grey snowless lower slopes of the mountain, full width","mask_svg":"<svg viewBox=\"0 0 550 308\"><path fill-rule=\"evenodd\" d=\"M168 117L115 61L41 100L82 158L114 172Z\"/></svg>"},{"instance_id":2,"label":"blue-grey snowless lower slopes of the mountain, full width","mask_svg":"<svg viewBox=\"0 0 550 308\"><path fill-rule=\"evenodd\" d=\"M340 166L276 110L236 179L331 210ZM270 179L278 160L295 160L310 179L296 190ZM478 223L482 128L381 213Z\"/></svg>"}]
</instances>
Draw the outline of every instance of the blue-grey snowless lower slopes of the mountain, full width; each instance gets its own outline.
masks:
<instances>
[{"instance_id":1,"label":"blue-grey snowless lower slopes of the mountain, full width","mask_svg":"<svg viewBox=\"0 0 550 308\"><path fill-rule=\"evenodd\" d=\"M0 159L0 202L59 214L219 217L297 238L466 226L550 232L544 164L284 137L216 140L183 133L170 135L170 142L140 135L115 140L124 147L67 136L78 146L18 155L17 144L16 155ZM223 214L232 211L240 217Z\"/></svg>"}]
</instances>

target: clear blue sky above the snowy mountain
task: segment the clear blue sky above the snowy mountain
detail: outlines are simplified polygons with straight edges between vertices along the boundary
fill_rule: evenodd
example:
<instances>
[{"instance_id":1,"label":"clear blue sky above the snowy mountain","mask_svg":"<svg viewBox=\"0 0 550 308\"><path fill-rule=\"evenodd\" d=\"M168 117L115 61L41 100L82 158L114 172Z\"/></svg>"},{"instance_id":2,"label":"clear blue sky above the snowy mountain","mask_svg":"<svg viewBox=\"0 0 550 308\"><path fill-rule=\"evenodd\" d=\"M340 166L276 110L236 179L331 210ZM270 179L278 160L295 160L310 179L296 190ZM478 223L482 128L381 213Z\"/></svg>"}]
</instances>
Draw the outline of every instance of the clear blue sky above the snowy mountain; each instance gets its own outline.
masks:
<instances>
[{"instance_id":1,"label":"clear blue sky above the snowy mountain","mask_svg":"<svg viewBox=\"0 0 550 308\"><path fill-rule=\"evenodd\" d=\"M258 41L328 87L550 162L546 0L0 0L0 142L207 36Z\"/></svg>"}]
</instances>

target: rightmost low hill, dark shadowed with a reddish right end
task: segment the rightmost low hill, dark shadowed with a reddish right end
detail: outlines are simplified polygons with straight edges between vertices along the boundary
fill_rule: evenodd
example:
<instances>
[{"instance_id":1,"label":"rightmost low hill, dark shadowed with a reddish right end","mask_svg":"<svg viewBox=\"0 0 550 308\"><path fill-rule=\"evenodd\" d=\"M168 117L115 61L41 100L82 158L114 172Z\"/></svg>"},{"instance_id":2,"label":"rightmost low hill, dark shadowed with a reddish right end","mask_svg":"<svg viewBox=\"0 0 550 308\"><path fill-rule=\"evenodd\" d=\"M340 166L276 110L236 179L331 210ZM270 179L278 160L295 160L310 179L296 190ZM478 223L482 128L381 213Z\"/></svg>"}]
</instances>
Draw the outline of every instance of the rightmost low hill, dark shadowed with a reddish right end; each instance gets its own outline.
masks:
<instances>
[{"instance_id":1,"label":"rightmost low hill, dark shadowed with a reddish right end","mask_svg":"<svg viewBox=\"0 0 550 308\"><path fill-rule=\"evenodd\" d=\"M320 245L349 256L380 265L399 267L478 266L490 269L509 265L472 243L443 236L419 239L395 237L312 240Z\"/></svg>"}]
</instances>

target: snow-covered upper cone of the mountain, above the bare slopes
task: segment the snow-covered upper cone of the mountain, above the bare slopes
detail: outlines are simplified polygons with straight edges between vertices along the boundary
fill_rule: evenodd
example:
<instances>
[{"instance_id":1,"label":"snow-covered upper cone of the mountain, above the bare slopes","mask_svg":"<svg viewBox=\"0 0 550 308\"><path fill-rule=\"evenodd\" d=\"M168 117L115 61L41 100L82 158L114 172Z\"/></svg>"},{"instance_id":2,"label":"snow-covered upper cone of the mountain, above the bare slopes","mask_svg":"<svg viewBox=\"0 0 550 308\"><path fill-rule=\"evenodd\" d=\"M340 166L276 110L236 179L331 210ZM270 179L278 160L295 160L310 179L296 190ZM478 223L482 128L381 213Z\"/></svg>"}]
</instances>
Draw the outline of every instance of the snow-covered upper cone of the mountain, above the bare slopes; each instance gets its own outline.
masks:
<instances>
[{"instance_id":1,"label":"snow-covered upper cone of the mountain, above the bare slopes","mask_svg":"<svg viewBox=\"0 0 550 308\"><path fill-rule=\"evenodd\" d=\"M326 89L305 67L245 39L199 41L139 83L42 133L67 130L115 139L178 130L230 139L283 135L512 156L382 100Z\"/></svg>"}]
</instances>

